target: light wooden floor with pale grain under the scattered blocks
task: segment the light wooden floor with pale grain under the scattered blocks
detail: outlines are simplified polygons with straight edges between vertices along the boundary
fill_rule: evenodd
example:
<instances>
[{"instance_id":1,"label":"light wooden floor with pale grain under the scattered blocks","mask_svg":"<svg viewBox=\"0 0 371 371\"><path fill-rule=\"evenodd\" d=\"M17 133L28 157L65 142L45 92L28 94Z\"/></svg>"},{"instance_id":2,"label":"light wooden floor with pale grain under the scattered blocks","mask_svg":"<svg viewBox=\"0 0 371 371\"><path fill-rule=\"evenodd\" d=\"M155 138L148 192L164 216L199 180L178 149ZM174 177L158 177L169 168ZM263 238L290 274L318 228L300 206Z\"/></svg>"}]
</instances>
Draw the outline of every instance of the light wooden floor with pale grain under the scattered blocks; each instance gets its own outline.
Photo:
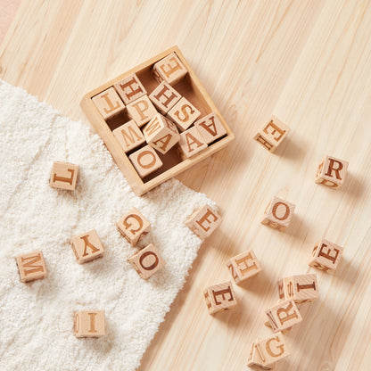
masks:
<instances>
[{"instance_id":1,"label":"light wooden floor with pale grain under the scattered blocks","mask_svg":"<svg viewBox=\"0 0 371 371\"><path fill-rule=\"evenodd\" d=\"M276 280L314 271L323 235L345 246L320 299L286 336L276 369L367 370L371 363L371 4L367 1L25 0L0 49L0 77L85 122L81 96L179 45L235 132L235 143L179 177L218 202L224 222L202 246L139 371L246 369L269 334ZM292 128L276 154L252 140L272 114ZM350 161L340 190L314 183L326 154ZM99 169L97 169L99 170ZM260 225L275 194L296 204L286 233ZM238 309L210 317L208 284L252 248L264 271L237 287Z\"/></svg>"}]
</instances>

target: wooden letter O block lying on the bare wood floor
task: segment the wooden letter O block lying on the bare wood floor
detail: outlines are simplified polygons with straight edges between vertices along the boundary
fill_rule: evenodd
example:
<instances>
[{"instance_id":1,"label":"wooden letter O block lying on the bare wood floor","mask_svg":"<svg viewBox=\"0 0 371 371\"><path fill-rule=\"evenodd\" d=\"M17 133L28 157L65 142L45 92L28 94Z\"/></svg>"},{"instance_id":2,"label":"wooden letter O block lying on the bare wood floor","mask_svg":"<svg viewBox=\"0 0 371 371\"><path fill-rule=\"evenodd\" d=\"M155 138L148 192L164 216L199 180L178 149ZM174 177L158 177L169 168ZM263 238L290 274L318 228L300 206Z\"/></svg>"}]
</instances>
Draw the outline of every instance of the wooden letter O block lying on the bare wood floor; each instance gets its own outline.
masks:
<instances>
[{"instance_id":1,"label":"wooden letter O block lying on the bare wood floor","mask_svg":"<svg viewBox=\"0 0 371 371\"><path fill-rule=\"evenodd\" d=\"M283 232L289 226L293 218L294 209L295 205L293 203L284 201L275 196L268 204L265 217L261 221L261 224Z\"/></svg>"}]
</instances>

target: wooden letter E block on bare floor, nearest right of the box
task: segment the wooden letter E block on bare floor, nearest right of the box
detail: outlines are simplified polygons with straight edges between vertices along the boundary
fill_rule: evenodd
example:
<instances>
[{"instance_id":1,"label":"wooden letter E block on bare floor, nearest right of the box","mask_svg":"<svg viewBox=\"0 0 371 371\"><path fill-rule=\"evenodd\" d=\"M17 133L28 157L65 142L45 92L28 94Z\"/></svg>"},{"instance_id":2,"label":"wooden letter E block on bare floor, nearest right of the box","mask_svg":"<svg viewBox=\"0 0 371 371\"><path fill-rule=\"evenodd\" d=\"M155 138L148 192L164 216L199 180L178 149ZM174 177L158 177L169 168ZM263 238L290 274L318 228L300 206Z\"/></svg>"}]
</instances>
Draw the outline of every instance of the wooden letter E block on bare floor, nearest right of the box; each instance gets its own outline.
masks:
<instances>
[{"instance_id":1,"label":"wooden letter E block on bare floor, nearest right of the box","mask_svg":"<svg viewBox=\"0 0 371 371\"><path fill-rule=\"evenodd\" d=\"M269 152L274 152L289 131L290 128L284 125L284 123L275 116L272 116L254 139Z\"/></svg>"}]
</instances>

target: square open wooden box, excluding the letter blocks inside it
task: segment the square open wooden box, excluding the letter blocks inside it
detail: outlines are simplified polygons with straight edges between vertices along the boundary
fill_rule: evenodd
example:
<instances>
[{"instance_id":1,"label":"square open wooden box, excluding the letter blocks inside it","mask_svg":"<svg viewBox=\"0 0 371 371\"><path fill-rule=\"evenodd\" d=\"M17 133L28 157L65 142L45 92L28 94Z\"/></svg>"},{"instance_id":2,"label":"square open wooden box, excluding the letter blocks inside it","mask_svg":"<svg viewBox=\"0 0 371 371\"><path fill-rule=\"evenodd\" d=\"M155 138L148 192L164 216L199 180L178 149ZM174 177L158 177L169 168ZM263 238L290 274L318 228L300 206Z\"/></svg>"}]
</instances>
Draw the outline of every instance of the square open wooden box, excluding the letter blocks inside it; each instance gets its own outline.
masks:
<instances>
[{"instance_id":1,"label":"square open wooden box, excluding the letter blocks inside it","mask_svg":"<svg viewBox=\"0 0 371 371\"><path fill-rule=\"evenodd\" d=\"M142 148L144 144L139 147L136 147L135 150L124 153L124 150L120 146L116 137L112 134L112 130L119 128L124 123L128 122L127 111L121 111L119 114L111 117L107 120L103 120L103 116L98 111L93 103L92 98L99 93L102 93L104 90L119 82L123 78L136 73L136 76L140 79L144 88L147 90L148 95L150 95L154 88L158 86L153 75L153 64L160 61L162 58L166 57L171 53L177 54L177 57L185 65L188 73L185 75L185 78L177 82L174 85L174 88L183 95L194 107L201 111L200 119L211 112L215 112L218 115L218 119L222 122L223 126L226 128L227 134L218 138L215 142L210 143L207 148L202 150L200 153L195 154L193 157L182 160L181 156L177 152L177 145L169 150L166 154L159 154L163 165L160 169L154 171L153 173L147 175L144 178L139 177L136 169L134 168L131 161L128 159L128 156L136 152L138 149ZM171 177L175 177L185 169L191 168L196 163L206 159L211 154L216 153L223 147L225 147L229 142L234 139L234 135L230 128L228 128L226 121L220 115L218 108L211 101L210 96L207 94L204 87L200 83L199 79L194 74L194 71L191 69L189 64L185 61L185 57L180 53L180 50L177 46L173 46L165 52L156 55L152 59L136 66L132 70L120 75L118 78L114 78L111 81L103 84L101 87L97 87L95 90L91 91L85 95L80 103L83 111L86 113L87 118L90 120L92 126L95 128L95 131L99 136L102 137L104 143L106 144L108 150L111 152L113 159L118 164L122 174L127 178L128 184L133 188L134 192L137 195L145 194L146 192L153 189L155 186L160 185L164 181L168 180Z\"/></svg>"}]
</instances>

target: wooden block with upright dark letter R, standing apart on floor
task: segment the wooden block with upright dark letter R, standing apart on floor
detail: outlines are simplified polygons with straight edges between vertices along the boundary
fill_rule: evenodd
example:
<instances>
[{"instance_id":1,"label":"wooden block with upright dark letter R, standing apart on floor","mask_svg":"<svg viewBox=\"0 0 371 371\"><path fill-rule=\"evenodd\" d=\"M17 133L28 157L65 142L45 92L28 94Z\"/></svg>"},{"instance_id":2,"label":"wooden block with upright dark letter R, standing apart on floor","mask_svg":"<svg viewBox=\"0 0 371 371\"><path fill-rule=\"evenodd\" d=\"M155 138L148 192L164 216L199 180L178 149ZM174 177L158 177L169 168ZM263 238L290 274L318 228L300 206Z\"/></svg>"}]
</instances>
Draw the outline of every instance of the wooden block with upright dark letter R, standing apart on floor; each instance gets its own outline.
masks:
<instances>
[{"instance_id":1,"label":"wooden block with upright dark letter R, standing apart on floor","mask_svg":"<svg viewBox=\"0 0 371 371\"><path fill-rule=\"evenodd\" d=\"M326 156L325 160L318 166L316 183L331 188L340 188L344 183L348 164L348 161Z\"/></svg>"}]
</instances>

